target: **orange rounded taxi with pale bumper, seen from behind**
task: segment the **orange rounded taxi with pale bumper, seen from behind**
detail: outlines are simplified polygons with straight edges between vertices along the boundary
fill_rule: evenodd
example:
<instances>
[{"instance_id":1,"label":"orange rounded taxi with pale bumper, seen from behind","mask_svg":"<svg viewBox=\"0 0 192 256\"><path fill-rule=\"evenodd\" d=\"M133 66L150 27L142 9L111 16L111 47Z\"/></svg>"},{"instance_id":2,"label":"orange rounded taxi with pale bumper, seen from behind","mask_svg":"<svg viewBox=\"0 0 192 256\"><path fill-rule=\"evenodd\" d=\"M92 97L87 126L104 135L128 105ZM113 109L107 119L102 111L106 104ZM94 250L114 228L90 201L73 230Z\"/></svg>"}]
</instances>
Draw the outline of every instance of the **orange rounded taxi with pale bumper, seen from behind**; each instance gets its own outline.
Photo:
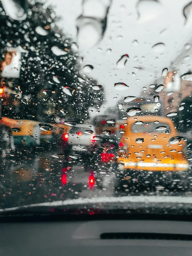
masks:
<instances>
[{"instance_id":1,"label":"orange rounded taxi with pale bumper, seen from behind","mask_svg":"<svg viewBox=\"0 0 192 256\"><path fill-rule=\"evenodd\" d=\"M189 164L185 141L167 117L134 116L126 119L118 147L119 169L184 171Z\"/></svg>"}]
</instances>

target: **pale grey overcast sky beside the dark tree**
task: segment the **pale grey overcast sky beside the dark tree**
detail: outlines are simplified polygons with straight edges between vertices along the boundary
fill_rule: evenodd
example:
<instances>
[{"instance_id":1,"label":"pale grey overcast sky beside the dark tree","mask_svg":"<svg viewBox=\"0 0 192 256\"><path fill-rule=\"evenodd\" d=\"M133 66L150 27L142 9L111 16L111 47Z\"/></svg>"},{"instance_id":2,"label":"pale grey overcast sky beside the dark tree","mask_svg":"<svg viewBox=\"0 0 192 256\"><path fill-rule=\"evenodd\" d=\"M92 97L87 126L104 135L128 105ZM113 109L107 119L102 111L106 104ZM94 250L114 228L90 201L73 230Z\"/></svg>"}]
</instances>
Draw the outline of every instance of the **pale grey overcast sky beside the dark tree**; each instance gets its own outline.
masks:
<instances>
[{"instance_id":1,"label":"pale grey overcast sky beside the dark tree","mask_svg":"<svg viewBox=\"0 0 192 256\"><path fill-rule=\"evenodd\" d=\"M82 14L82 0L49 2L62 17L59 26L76 42L76 19ZM91 48L79 49L79 55L84 58L82 67L92 65L94 69L89 76L105 88L104 106L107 107L115 104L113 97L117 94L118 99L122 96L139 96L143 86L154 83L155 77L160 76L162 69L169 68L171 61L176 59L191 37L192 12L186 24L183 16L183 7L189 0L142 0L139 5L138 2L113 0L103 39ZM93 10L90 9L90 13L91 11ZM90 34L87 33L86 36L85 40L89 40ZM137 45L133 44L134 40L138 41ZM160 52L152 48L157 43L165 44ZM111 52L107 51L108 49L111 49ZM116 62L123 54L128 54L129 60L125 68L119 69ZM188 62L190 63L190 58ZM143 70L137 70L136 67L143 67ZM133 76L132 72L136 76ZM129 88L126 91L115 90L114 83L118 82L124 82Z\"/></svg>"}]
</instances>

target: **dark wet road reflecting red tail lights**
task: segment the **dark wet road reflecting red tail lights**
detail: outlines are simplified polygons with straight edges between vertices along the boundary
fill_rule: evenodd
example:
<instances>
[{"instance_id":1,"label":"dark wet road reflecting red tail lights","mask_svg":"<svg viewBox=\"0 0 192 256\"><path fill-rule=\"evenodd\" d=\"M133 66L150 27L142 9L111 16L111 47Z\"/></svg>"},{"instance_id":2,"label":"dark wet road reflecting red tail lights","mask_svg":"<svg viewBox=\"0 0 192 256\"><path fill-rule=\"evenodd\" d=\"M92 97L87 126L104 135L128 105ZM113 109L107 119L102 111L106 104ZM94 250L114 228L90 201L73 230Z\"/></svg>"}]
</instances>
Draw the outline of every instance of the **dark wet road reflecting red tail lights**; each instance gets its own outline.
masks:
<instances>
[{"instance_id":1,"label":"dark wet road reflecting red tail lights","mask_svg":"<svg viewBox=\"0 0 192 256\"><path fill-rule=\"evenodd\" d=\"M144 173L145 181L139 183L141 175L136 176L135 173L129 175L118 171L115 164L105 166L99 161L91 161L89 157L83 161L83 159L66 159L61 153L56 154L55 151L44 149L33 153L27 150L20 151L2 160L0 208L80 197L192 195L190 170L182 173L182 176L179 174L180 178L168 177L167 179L171 181L169 188L162 183L162 177L152 180L147 173ZM118 182L122 180L124 183L121 182L119 186ZM134 186L130 185L130 180ZM149 186L151 183L155 190Z\"/></svg>"}]
</instances>

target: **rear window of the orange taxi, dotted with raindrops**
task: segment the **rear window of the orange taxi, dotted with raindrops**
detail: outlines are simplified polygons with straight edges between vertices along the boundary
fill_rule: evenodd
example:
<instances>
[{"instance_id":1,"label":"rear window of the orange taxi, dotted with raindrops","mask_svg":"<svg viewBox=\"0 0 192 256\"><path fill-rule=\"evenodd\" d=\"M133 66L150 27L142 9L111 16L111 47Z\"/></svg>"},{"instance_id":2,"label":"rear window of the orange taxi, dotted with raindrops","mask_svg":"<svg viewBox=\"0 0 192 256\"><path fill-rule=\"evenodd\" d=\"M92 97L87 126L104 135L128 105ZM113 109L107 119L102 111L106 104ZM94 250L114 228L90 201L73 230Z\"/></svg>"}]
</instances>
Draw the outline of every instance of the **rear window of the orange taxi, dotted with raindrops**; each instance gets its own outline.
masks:
<instances>
[{"instance_id":1,"label":"rear window of the orange taxi, dotted with raindrops","mask_svg":"<svg viewBox=\"0 0 192 256\"><path fill-rule=\"evenodd\" d=\"M132 133L171 133L171 127L163 122L134 122L131 126Z\"/></svg>"}]
</instances>

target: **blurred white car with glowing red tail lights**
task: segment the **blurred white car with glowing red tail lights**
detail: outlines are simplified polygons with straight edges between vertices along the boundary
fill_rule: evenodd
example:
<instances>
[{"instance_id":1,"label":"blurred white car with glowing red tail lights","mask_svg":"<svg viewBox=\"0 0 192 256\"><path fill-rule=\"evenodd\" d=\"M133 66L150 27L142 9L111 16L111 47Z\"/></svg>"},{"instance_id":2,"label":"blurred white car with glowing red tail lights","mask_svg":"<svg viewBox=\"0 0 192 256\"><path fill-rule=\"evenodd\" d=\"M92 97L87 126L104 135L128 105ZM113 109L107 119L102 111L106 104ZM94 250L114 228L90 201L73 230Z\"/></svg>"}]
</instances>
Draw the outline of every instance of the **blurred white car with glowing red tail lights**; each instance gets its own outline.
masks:
<instances>
[{"instance_id":1,"label":"blurred white car with glowing red tail lights","mask_svg":"<svg viewBox=\"0 0 192 256\"><path fill-rule=\"evenodd\" d=\"M63 135L64 151L69 153L93 154L97 147L95 127L93 125L77 124L71 126Z\"/></svg>"}]
</instances>

